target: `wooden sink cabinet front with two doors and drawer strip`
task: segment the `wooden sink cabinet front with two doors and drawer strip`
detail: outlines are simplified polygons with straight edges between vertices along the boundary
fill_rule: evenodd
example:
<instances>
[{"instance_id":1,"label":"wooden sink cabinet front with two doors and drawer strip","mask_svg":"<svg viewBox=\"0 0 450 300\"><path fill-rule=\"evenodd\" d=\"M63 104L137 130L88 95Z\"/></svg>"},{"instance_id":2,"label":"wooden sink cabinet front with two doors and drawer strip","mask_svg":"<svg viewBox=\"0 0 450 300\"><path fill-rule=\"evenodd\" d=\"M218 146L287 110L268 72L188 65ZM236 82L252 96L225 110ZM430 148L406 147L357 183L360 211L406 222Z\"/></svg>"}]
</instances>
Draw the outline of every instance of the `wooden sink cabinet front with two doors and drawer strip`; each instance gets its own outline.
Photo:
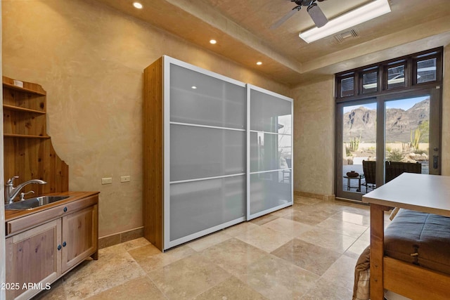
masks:
<instances>
[{"instance_id":1,"label":"wooden sink cabinet front with two doors and drawer strip","mask_svg":"<svg viewBox=\"0 0 450 300\"><path fill-rule=\"evenodd\" d=\"M6 222L6 299L29 299L89 256L98 258L98 195ZM34 284L24 289L24 284Z\"/></svg>"}]
</instances>

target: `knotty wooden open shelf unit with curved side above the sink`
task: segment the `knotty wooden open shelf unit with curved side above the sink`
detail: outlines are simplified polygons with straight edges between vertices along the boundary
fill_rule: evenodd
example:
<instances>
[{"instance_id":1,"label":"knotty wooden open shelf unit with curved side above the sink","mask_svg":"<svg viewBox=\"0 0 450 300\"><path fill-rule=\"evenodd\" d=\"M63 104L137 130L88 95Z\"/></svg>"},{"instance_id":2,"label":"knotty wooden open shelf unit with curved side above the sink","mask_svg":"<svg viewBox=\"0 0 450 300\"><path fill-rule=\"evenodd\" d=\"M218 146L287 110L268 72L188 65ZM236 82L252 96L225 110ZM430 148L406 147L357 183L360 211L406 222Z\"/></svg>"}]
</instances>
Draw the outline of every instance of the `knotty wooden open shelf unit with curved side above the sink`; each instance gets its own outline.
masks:
<instances>
[{"instance_id":1,"label":"knotty wooden open shelf unit with curved side above the sink","mask_svg":"<svg viewBox=\"0 0 450 300\"><path fill-rule=\"evenodd\" d=\"M69 189L69 168L46 133L46 91L39 84L3 77L4 178L19 176L15 185L41 179L45 185L27 185L34 196Z\"/></svg>"}]
</instances>

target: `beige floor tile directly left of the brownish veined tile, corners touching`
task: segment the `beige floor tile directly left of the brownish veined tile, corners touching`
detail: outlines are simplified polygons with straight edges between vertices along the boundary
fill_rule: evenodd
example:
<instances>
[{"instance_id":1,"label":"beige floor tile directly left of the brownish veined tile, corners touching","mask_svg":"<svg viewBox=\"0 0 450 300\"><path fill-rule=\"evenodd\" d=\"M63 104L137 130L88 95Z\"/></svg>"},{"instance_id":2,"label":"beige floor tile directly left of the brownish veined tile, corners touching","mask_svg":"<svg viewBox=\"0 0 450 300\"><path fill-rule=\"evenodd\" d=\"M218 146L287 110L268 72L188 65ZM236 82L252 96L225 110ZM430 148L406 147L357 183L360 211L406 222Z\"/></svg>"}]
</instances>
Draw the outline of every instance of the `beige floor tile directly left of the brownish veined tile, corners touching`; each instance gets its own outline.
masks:
<instances>
[{"instance_id":1,"label":"beige floor tile directly left of the brownish veined tile, corners touching","mask_svg":"<svg viewBox=\"0 0 450 300\"><path fill-rule=\"evenodd\" d=\"M265 251L236 238L216 244L200 254L233 275L244 273L252 263L269 256Z\"/></svg>"}]
</instances>

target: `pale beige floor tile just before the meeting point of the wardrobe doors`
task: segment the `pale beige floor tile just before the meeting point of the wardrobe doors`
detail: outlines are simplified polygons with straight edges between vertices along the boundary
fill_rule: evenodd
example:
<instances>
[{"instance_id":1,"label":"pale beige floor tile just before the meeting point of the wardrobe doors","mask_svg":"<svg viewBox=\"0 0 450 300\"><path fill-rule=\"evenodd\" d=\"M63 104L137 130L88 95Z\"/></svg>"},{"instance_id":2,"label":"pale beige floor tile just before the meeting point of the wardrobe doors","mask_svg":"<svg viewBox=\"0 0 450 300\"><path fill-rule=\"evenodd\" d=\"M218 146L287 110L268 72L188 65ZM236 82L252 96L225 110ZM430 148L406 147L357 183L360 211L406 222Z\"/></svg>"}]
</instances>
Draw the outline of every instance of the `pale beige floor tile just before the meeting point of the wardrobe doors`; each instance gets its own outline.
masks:
<instances>
[{"instance_id":1,"label":"pale beige floor tile just before the meeting point of the wardrobe doors","mask_svg":"<svg viewBox=\"0 0 450 300\"><path fill-rule=\"evenodd\" d=\"M282 244L292 240L292 237L289 235L259 226L241 235L237 235L236 238L266 252L272 252Z\"/></svg>"}]
</instances>

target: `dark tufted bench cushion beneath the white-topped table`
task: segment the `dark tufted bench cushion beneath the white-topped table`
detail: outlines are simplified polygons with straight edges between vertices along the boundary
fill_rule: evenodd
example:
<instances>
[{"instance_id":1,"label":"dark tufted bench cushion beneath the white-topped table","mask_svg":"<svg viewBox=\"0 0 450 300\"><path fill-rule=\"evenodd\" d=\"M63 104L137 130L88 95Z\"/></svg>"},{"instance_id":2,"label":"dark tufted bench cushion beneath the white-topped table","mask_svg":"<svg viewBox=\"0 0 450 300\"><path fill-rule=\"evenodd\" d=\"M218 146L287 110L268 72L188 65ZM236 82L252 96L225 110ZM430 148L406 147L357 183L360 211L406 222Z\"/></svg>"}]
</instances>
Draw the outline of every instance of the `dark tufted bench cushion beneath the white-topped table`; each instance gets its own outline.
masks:
<instances>
[{"instance_id":1,"label":"dark tufted bench cushion beneath the white-topped table","mask_svg":"<svg viewBox=\"0 0 450 300\"><path fill-rule=\"evenodd\" d=\"M385 255L450 275L450 218L400 209L385 230Z\"/></svg>"}]
</instances>

